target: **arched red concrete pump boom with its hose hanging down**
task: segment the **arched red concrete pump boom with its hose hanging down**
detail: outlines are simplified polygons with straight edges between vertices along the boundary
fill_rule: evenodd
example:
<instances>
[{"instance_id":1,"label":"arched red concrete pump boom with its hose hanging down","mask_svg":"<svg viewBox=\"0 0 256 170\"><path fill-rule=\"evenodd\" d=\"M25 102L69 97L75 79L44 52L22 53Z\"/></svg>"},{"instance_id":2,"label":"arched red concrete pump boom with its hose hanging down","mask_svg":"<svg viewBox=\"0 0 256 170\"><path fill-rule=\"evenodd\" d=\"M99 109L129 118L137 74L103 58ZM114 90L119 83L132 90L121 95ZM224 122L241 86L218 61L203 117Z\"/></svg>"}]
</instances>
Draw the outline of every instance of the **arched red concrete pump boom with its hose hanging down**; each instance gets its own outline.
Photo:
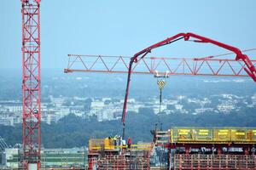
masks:
<instances>
[{"instance_id":1,"label":"arched red concrete pump boom with its hose hanging down","mask_svg":"<svg viewBox=\"0 0 256 170\"><path fill-rule=\"evenodd\" d=\"M244 70L247 72L249 77L253 78L253 81L256 82L256 70L252 63L252 61L247 57L246 54L242 54L241 50L239 48L232 47L230 45L224 44L222 42L217 42L215 40L212 40L207 37L201 37L199 35L196 35L194 33L179 33L173 37L168 37L166 40L163 40L161 42L157 42L148 48L144 48L142 51L138 52L137 54L134 54L134 56L131 58L128 68L128 77L127 77L127 84L126 84L126 90L125 90L125 101L124 101L124 107L123 107L123 114L122 114L122 123L123 123L123 138L125 138L125 116L126 116L126 108L127 108L127 101L128 101L128 95L129 95L129 88L130 88L130 82L131 82L131 72L132 72L132 65L133 63L137 63L138 60L143 59L148 53L151 52L154 48L159 48L161 46L165 46L167 44L170 44L172 42L176 42L178 40L184 39L184 41L189 41L190 37L194 37L195 40L192 40L193 42L206 42L206 43L212 43L220 48L225 48L230 50L231 52L236 54L236 60L242 60L245 65Z\"/></svg>"}]
</instances>

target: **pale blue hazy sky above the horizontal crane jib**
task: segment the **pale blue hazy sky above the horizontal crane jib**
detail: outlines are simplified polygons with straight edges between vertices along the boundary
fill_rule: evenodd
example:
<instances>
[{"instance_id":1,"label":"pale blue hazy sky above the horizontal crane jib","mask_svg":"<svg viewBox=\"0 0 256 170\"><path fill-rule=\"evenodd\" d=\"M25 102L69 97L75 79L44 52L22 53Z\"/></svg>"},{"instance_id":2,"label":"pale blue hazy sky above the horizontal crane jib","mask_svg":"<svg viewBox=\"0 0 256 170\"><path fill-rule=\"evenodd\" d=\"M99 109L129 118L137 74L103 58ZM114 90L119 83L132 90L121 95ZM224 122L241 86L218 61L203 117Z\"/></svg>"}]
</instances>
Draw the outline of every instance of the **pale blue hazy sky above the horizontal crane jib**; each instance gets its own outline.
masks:
<instances>
[{"instance_id":1,"label":"pale blue hazy sky above the horizontal crane jib","mask_svg":"<svg viewBox=\"0 0 256 170\"><path fill-rule=\"evenodd\" d=\"M20 7L20 0L1 0L0 68L21 68ZM255 0L42 0L42 68L61 71L67 54L132 55L186 31L241 49L255 48L255 7ZM195 50L186 43L166 47L160 54L222 52L203 46Z\"/></svg>"}]
</instances>

